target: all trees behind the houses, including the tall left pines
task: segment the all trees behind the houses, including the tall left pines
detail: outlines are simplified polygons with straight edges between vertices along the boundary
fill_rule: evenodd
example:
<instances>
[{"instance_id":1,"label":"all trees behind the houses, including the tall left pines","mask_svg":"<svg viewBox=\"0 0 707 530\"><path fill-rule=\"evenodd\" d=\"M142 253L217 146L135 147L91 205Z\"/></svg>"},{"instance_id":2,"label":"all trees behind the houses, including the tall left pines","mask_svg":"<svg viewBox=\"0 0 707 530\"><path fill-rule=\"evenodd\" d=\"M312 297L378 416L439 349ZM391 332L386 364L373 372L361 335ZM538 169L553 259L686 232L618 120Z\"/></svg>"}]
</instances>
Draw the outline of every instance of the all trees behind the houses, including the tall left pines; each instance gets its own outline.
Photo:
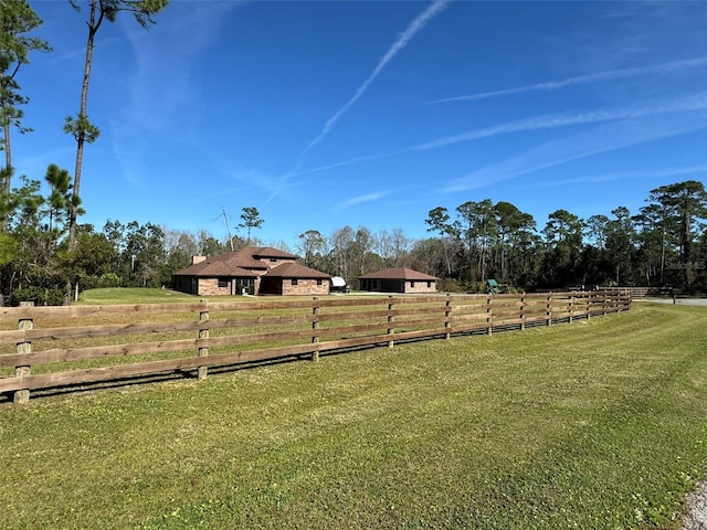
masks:
<instances>
[{"instance_id":1,"label":"all trees behind the houses, including the tall left pines","mask_svg":"<svg viewBox=\"0 0 707 530\"><path fill-rule=\"evenodd\" d=\"M78 0L68 3L81 10ZM80 289L94 287L169 287L172 274L194 255L265 244L252 237L264 222L255 206L242 209L238 227L246 236L231 236L229 230L225 241L205 230L175 231L149 222L108 220L101 230L78 222L84 213L78 195L84 148L99 135L87 118L96 32L122 11L147 28L167 0L83 3L88 36L80 110L64 124L76 142L74 174L50 165L40 181L14 177L11 132L30 131L22 124L22 106L29 100L19 74L31 53L50 52L51 46L32 36L42 21L27 0L0 2L0 146L6 155L0 169L0 304L64 304ZM523 290L650 285L705 292L706 219L705 187L688 180L651 190L637 212L618 206L611 216L580 219L557 210L538 226L514 204L484 199L453 211L433 208L421 220L430 234L424 239L409 239L401 229L373 233L344 226L323 234L313 227L292 248L282 242L268 245L298 254L306 266L342 276L354 288L362 274L404 266L437 276L441 289L450 292L483 292L489 278Z\"/></svg>"}]
</instances>

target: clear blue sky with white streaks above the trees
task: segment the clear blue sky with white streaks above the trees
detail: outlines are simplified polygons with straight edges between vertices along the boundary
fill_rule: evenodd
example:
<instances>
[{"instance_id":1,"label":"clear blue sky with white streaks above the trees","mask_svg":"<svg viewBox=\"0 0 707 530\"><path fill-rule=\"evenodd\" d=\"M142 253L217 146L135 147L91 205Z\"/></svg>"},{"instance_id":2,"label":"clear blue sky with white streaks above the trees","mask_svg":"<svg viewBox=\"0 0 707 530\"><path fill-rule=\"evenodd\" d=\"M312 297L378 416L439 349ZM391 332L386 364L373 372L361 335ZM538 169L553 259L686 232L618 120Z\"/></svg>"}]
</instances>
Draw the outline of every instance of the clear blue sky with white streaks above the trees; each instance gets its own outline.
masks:
<instances>
[{"instance_id":1,"label":"clear blue sky with white streaks above the trees","mask_svg":"<svg viewBox=\"0 0 707 530\"><path fill-rule=\"evenodd\" d=\"M18 80L34 131L13 162L73 174L87 14L31 4L54 51ZM508 201L541 229L707 180L707 2L172 0L156 19L97 36L81 188L97 230L225 237L222 211L235 232L255 206L267 244L421 239L436 206Z\"/></svg>"}]
</instances>

